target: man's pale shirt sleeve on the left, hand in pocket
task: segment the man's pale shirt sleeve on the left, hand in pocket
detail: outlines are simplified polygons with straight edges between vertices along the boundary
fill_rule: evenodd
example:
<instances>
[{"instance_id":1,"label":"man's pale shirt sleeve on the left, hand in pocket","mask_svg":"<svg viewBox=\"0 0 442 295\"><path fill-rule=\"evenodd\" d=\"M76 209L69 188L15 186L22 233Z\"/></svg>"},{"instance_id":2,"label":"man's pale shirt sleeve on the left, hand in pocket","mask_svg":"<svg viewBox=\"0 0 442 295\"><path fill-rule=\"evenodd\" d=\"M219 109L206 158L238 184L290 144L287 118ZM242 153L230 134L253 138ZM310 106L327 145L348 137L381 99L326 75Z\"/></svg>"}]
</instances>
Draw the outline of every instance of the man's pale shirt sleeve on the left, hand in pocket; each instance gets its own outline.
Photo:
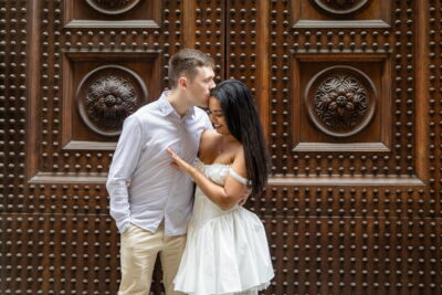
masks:
<instances>
[{"instance_id":1,"label":"man's pale shirt sleeve on the left, hand in pocket","mask_svg":"<svg viewBox=\"0 0 442 295\"><path fill-rule=\"evenodd\" d=\"M130 224L128 183L137 167L143 148L141 128L136 117L126 118L106 182L110 199L110 215L118 231L124 233Z\"/></svg>"}]
</instances>

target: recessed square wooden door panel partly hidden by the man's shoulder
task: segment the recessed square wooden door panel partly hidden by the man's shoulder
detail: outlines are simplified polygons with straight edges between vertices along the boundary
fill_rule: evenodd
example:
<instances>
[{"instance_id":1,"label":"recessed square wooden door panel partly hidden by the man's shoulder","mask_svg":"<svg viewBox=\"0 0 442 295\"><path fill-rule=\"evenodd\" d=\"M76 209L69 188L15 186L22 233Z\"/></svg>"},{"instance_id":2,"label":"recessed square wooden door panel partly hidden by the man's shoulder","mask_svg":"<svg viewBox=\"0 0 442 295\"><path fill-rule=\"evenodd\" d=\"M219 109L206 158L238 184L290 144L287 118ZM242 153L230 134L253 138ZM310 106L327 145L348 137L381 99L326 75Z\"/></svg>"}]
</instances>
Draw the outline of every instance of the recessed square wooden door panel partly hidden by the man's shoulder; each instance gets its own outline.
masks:
<instances>
[{"instance_id":1,"label":"recessed square wooden door panel partly hidden by the man's shoulder","mask_svg":"<svg viewBox=\"0 0 442 295\"><path fill-rule=\"evenodd\" d=\"M124 119L160 94L158 53L67 53L64 149L113 149Z\"/></svg>"}]
</instances>

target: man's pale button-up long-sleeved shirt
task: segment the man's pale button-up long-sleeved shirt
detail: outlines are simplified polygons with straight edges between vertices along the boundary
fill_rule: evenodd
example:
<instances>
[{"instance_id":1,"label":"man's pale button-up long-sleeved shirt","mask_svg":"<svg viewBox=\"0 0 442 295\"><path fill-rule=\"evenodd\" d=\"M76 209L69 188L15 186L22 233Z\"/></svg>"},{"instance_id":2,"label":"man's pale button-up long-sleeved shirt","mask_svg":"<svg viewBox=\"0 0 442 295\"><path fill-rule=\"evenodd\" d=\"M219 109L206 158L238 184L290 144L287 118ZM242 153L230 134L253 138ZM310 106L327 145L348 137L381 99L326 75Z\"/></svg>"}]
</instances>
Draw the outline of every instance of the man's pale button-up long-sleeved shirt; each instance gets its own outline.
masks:
<instances>
[{"instance_id":1,"label":"man's pale button-up long-sleeved shirt","mask_svg":"<svg viewBox=\"0 0 442 295\"><path fill-rule=\"evenodd\" d=\"M167 99L140 107L124 122L106 183L110 215L124 233L133 223L155 232L165 221L166 235L187 232L193 204L193 183L170 164L167 148L183 160L197 157L201 134L212 128L199 107L178 115Z\"/></svg>"}]
</instances>

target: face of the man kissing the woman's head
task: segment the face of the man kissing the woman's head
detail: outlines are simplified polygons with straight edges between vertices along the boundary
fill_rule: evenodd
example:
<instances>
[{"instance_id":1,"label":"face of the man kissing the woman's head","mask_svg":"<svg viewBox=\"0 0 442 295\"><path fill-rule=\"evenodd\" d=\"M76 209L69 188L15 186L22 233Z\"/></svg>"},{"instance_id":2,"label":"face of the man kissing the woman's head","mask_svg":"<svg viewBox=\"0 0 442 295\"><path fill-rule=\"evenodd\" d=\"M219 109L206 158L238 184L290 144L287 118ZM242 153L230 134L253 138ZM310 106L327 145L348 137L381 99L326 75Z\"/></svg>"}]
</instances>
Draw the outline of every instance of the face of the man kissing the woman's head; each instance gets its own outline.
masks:
<instances>
[{"instance_id":1,"label":"face of the man kissing the woman's head","mask_svg":"<svg viewBox=\"0 0 442 295\"><path fill-rule=\"evenodd\" d=\"M197 75L193 80L188 80L189 98L193 105L207 108L209 105L209 94L214 85L214 73L210 66L197 67Z\"/></svg>"}]
</instances>

